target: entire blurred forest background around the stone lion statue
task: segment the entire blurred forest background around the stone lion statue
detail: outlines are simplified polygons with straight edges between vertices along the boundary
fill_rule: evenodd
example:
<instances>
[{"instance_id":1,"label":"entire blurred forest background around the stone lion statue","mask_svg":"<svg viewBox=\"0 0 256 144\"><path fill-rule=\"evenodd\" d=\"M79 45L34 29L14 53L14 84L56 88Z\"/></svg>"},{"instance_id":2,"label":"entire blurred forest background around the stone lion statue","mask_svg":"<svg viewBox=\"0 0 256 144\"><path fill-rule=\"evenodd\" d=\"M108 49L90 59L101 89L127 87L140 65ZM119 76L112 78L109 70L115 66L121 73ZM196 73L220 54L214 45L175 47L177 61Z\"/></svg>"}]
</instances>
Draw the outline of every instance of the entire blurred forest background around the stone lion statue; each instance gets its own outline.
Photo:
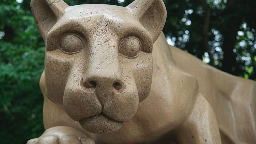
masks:
<instances>
[{"instance_id":1,"label":"entire blurred forest background around the stone lion statue","mask_svg":"<svg viewBox=\"0 0 256 144\"><path fill-rule=\"evenodd\" d=\"M69 5L133 0L64 0ZM225 72L256 80L255 0L163 0L167 42ZM24 144L44 131L39 88L45 43L30 0L0 0L0 141Z\"/></svg>"}]
</instances>

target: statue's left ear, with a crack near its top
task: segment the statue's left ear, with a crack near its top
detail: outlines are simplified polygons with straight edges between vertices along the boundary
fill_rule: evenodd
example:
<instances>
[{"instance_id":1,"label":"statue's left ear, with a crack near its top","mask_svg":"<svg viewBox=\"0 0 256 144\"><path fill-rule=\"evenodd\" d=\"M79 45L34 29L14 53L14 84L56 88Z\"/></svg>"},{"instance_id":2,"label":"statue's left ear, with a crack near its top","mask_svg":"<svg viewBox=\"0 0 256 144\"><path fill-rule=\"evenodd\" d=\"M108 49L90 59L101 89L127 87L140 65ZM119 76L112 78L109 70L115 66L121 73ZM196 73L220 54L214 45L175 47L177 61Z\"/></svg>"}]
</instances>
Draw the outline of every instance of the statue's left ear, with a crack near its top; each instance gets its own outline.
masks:
<instances>
[{"instance_id":1,"label":"statue's left ear, with a crack near its top","mask_svg":"<svg viewBox=\"0 0 256 144\"><path fill-rule=\"evenodd\" d=\"M31 0L30 6L37 28L46 41L48 31L63 15L68 5L62 0Z\"/></svg>"}]
</instances>

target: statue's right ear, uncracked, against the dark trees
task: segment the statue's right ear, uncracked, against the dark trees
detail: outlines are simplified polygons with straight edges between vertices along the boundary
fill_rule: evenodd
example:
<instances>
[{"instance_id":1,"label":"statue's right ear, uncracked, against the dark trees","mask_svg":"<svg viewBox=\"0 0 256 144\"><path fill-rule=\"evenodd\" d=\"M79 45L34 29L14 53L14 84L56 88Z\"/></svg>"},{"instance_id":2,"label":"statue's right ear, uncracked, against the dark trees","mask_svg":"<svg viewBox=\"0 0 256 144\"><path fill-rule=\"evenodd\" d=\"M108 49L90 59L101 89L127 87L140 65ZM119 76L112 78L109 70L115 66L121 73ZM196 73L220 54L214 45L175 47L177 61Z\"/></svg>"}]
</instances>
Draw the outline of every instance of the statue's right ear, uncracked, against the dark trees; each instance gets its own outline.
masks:
<instances>
[{"instance_id":1,"label":"statue's right ear, uncracked, against the dark trees","mask_svg":"<svg viewBox=\"0 0 256 144\"><path fill-rule=\"evenodd\" d=\"M135 0L126 7L156 41L166 21L166 8L162 0Z\"/></svg>"}]
</instances>

